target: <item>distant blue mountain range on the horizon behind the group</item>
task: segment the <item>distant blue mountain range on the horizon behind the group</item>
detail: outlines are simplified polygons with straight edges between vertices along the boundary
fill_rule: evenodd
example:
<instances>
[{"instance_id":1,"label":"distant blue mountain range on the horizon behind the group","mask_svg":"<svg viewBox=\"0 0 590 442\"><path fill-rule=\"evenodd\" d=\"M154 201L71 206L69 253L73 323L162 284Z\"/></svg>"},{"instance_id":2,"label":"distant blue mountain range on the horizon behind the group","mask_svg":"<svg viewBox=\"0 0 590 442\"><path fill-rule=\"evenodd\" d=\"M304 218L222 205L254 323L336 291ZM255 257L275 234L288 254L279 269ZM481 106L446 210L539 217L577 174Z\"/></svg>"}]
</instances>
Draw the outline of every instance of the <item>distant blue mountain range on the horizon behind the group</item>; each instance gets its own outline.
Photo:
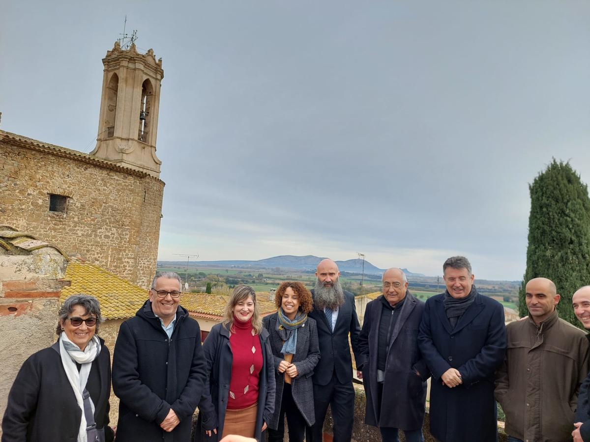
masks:
<instances>
[{"instance_id":1,"label":"distant blue mountain range on the horizon behind the group","mask_svg":"<svg viewBox=\"0 0 590 442\"><path fill-rule=\"evenodd\" d=\"M257 261L246 260L222 260L222 261L192 261L189 262L190 267L214 267L214 268L232 268L238 267L241 269L273 269L280 268L283 270L299 270L299 271L315 271L317 264L324 258L318 256L293 256L281 255L273 256L273 258L259 259ZM336 261L340 272L360 273L363 271L362 259L349 259L346 261ZM186 266L186 261L158 261L158 265L163 266ZM408 269L402 269L408 276L424 276L421 273L412 273ZM381 275L385 272L384 269L372 265L365 260L365 273L368 275Z\"/></svg>"}]
</instances>

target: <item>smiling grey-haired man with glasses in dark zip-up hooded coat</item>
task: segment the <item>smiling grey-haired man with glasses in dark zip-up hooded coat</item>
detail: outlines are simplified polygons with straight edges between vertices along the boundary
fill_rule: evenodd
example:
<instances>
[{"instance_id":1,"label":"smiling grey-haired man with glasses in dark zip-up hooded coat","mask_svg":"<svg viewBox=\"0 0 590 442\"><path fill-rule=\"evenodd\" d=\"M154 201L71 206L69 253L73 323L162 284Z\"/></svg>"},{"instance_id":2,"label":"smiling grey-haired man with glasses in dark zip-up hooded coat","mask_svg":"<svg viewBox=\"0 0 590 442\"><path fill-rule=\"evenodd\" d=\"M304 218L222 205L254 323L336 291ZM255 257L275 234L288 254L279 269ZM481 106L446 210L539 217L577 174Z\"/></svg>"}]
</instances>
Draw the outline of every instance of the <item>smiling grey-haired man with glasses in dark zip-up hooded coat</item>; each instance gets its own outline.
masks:
<instances>
[{"instance_id":1,"label":"smiling grey-haired man with glasses in dark zip-up hooded coat","mask_svg":"<svg viewBox=\"0 0 590 442\"><path fill-rule=\"evenodd\" d=\"M119 442L191 437L206 362L199 324L179 305L180 298L181 278L174 272L156 273L149 299L121 324L113 354Z\"/></svg>"}]
</instances>

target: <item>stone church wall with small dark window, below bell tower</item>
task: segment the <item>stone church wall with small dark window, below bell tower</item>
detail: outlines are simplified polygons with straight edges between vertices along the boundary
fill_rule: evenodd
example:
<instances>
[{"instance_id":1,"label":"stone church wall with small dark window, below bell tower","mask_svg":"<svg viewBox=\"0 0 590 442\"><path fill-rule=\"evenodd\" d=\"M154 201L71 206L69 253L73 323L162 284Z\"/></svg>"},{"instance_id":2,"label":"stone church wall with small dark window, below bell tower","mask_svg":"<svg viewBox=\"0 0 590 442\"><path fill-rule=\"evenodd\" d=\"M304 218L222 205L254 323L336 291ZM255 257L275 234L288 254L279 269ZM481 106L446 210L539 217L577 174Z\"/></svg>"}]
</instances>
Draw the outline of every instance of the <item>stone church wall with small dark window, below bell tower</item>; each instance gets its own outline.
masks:
<instances>
[{"instance_id":1,"label":"stone church wall with small dark window, below bell tower","mask_svg":"<svg viewBox=\"0 0 590 442\"><path fill-rule=\"evenodd\" d=\"M80 154L17 146L0 136L0 224L53 243L147 288L155 273L164 183ZM67 196L49 212L48 194Z\"/></svg>"}]
</instances>

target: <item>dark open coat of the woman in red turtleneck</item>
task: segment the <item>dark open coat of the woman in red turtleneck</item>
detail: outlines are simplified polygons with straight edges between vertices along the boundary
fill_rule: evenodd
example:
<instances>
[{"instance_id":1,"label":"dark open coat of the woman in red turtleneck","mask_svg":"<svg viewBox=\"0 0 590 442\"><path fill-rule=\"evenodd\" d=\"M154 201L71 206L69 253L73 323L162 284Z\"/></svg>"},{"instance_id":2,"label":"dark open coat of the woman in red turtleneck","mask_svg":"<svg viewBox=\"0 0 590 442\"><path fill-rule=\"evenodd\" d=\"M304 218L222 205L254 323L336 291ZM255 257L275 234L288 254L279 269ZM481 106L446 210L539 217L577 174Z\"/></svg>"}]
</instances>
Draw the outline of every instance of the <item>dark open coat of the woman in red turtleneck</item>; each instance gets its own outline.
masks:
<instances>
[{"instance_id":1,"label":"dark open coat of the woman in red turtleneck","mask_svg":"<svg viewBox=\"0 0 590 442\"><path fill-rule=\"evenodd\" d=\"M260 347L264 349L260 380L258 382L258 410L256 415L256 433L254 437L261 441L264 422L271 427L274 413L274 362L273 352L268 341L268 331L260 332ZM195 441L216 442L221 439L225 422L225 408L230 395L231 366L234 355L231 352L230 331L223 324L215 324L203 342L205 359L207 360L208 381L201 402L199 402L199 418L195 433ZM205 435L205 430L217 428L217 434Z\"/></svg>"}]
</instances>

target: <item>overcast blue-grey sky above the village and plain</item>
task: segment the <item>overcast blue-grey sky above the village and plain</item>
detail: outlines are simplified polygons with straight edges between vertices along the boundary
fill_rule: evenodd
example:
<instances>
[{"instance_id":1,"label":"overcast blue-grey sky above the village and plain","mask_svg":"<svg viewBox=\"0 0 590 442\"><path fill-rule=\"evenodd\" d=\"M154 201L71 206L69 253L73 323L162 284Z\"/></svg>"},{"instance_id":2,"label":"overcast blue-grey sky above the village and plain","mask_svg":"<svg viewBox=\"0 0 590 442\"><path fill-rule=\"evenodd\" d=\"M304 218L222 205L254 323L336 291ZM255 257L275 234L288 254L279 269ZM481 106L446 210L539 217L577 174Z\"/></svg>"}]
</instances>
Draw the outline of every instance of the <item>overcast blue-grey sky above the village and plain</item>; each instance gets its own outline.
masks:
<instances>
[{"instance_id":1,"label":"overcast blue-grey sky above the village and plain","mask_svg":"<svg viewBox=\"0 0 590 442\"><path fill-rule=\"evenodd\" d=\"M1 128L89 152L101 58L162 57L159 259L521 279L528 184L590 180L590 2L2 2Z\"/></svg>"}]
</instances>

